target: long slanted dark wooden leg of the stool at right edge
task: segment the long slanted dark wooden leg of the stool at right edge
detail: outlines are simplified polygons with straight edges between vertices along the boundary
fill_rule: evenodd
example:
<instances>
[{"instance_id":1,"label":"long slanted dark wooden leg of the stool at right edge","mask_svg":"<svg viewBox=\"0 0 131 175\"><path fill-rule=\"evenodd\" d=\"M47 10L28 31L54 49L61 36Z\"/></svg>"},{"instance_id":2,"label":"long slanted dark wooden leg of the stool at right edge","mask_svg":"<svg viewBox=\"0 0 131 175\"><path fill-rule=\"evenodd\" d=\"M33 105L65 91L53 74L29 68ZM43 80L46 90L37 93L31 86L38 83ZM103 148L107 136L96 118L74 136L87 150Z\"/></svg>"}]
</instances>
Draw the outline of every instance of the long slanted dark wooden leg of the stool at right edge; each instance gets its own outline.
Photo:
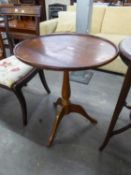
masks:
<instances>
[{"instance_id":1,"label":"long slanted dark wooden leg of the stool at right edge","mask_svg":"<svg viewBox=\"0 0 131 175\"><path fill-rule=\"evenodd\" d=\"M131 85L131 68L129 67L127 70L127 74L125 76L125 80L123 82L123 86L122 86L122 89L121 89L113 116L112 116L112 120L110 122L110 126L109 126L108 131L107 131L107 135L105 137L103 144L100 147L100 151L102 151L106 147L111 136L113 136L113 129L116 125L119 114L120 114L120 112L125 104L126 97L127 97L128 92L130 90L130 85Z\"/></svg>"}]
</instances>

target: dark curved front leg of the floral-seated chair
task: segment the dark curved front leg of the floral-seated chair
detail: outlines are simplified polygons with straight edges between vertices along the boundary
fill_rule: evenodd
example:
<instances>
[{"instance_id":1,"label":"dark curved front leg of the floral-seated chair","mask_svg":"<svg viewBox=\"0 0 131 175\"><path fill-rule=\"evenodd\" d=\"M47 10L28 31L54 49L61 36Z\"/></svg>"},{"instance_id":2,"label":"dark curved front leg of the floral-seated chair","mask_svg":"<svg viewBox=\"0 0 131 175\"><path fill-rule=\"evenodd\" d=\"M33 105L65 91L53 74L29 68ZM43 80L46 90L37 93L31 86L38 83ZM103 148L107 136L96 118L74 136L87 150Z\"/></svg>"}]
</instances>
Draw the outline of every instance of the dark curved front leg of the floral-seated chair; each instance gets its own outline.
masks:
<instances>
[{"instance_id":1,"label":"dark curved front leg of the floral-seated chair","mask_svg":"<svg viewBox=\"0 0 131 175\"><path fill-rule=\"evenodd\" d=\"M22 93L21 88L14 87L13 91L14 91L14 93L15 93L15 95L20 103L20 106L21 106L23 125L26 126L27 125L27 107L26 107L25 97Z\"/></svg>"}]
</instances>

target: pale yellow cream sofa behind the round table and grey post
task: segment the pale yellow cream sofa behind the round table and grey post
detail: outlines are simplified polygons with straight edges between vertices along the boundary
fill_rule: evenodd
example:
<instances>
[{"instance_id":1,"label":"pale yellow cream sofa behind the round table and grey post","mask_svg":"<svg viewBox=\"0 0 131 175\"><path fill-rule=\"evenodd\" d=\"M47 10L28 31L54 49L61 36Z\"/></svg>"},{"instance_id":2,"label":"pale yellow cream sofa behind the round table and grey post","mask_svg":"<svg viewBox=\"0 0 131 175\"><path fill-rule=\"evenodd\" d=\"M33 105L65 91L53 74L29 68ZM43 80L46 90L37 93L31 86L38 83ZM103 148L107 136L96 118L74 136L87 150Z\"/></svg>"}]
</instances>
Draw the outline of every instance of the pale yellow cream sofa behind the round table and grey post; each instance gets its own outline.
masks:
<instances>
[{"instance_id":1,"label":"pale yellow cream sofa behind the round table and grey post","mask_svg":"<svg viewBox=\"0 0 131 175\"><path fill-rule=\"evenodd\" d=\"M59 18L40 23L40 34L74 32L76 5L67 12L60 12ZM91 34L107 38L116 45L131 35L131 7L93 7ZM118 56L113 62L99 69L125 74L127 67Z\"/></svg>"}]
</instances>

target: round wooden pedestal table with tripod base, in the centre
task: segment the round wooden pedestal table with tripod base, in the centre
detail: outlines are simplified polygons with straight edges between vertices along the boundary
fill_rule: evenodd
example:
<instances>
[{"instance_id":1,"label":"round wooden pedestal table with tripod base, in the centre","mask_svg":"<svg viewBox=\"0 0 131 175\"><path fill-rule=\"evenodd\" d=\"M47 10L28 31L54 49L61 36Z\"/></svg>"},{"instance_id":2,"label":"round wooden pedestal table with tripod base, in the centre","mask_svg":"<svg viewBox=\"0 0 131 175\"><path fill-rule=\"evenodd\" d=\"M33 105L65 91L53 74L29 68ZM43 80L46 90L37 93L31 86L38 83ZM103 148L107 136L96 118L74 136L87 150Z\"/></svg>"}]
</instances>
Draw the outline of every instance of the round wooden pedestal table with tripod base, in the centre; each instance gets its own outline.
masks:
<instances>
[{"instance_id":1,"label":"round wooden pedestal table with tripod base, in the centre","mask_svg":"<svg viewBox=\"0 0 131 175\"><path fill-rule=\"evenodd\" d=\"M113 43L90 35L55 34L21 42L15 47L14 54L21 61L35 67L64 72L62 96L56 101L61 110L56 115L48 141L49 146L66 114L80 113L91 123L97 123L82 106L71 103L69 71L90 69L112 61L118 54L118 49Z\"/></svg>"}]
</instances>

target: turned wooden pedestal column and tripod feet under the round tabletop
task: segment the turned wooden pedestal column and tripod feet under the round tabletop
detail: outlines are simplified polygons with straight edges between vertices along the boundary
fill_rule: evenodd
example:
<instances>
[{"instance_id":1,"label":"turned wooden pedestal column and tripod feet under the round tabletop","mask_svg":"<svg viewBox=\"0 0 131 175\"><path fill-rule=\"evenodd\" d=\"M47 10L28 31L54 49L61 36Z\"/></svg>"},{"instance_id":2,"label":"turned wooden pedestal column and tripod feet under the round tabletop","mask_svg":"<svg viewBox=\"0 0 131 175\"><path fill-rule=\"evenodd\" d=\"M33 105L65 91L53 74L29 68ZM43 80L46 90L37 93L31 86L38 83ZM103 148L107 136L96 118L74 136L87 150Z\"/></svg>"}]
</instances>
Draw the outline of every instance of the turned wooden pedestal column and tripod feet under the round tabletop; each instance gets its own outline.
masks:
<instances>
[{"instance_id":1,"label":"turned wooden pedestal column and tripod feet under the round tabletop","mask_svg":"<svg viewBox=\"0 0 131 175\"><path fill-rule=\"evenodd\" d=\"M56 131L58 129L58 126L60 124L60 121L64 117L64 115L69 114L71 112L79 113L86 119L88 119L91 123L95 124L97 123L97 120L90 117L84 108L78 104L72 104L70 102L70 96L71 96L71 90L70 90L70 81L69 81L69 72L64 71L64 77L63 77L63 85L62 85L62 97L58 98L55 102L55 105L60 105L62 108L57 113L55 121L53 123L51 135L48 140L48 146L51 146L54 137L56 135Z\"/></svg>"}]
</instances>

